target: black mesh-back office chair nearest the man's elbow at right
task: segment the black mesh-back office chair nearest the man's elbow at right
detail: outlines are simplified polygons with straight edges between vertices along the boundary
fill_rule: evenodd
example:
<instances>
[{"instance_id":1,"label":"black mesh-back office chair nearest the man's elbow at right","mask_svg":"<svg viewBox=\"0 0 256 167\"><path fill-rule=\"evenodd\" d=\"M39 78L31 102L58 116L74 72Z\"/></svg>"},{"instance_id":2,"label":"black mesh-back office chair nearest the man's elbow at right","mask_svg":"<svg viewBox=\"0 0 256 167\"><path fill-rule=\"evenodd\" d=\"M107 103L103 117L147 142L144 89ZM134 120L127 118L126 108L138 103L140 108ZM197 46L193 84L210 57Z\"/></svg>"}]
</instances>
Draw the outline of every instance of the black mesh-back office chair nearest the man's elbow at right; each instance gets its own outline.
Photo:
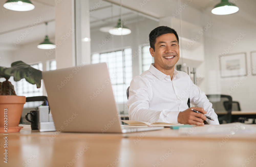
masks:
<instances>
[{"instance_id":1,"label":"black mesh-back office chair nearest the man's elbow at right","mask_svg":"<svg viewBox=\"0 0 256 167\"><path fill-rule=\"evenodd\" d=\"M232 97L228 95L206 95L209 101L212 103L212 108L215 113L227 112L223 116L218 116L220 124L231 123L231 111L232 111Z\"/></svg>"}]
</instances>

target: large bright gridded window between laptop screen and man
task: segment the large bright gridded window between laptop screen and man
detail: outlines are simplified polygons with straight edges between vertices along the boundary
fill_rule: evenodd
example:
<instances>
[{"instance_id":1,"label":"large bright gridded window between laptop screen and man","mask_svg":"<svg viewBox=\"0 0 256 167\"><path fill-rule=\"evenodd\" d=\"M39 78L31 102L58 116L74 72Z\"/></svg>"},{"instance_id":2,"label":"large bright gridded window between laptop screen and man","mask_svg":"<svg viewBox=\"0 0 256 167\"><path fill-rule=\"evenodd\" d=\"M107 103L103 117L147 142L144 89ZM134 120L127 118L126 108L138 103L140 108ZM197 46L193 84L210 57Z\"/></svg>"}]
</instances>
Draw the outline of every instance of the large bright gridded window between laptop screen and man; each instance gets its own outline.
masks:
<instances>
[{"instance_id":1,"label":"large bright gridded window between laptop screen and man","mask_svg":"<svg viewBox=\"0 0 256 167\"><path fill-rule=\"evenodd\" d=\"M132 80L132 49L92 54L91 63L108 64L110 80L117 103L127 102L126 89Z\"/></svg>"}]
</instances>

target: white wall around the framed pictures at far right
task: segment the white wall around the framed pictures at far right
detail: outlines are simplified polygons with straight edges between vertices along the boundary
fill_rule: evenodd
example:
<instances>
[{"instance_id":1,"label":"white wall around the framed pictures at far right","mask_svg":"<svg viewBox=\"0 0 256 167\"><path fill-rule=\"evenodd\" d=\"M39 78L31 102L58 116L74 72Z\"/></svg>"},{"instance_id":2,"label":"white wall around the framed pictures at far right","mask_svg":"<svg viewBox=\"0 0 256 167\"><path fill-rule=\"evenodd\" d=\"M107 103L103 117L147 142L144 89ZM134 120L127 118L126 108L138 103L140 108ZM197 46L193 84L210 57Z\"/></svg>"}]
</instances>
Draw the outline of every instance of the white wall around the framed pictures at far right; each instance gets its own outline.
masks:
<instances>
[{"instance_id":1,"label":"white wall around the framed pictures at far right","mask_svg":"<svg viewBox=\"0 0 256 167\"><path fill-rule=\"evenodd\" d=\"M235 15L230 16L230 19L237 20L237 23L241 23L238 20L239 18L235 19L233 17L235 17ZM217 93L230 95L233 101L240 103L241 110L255 110L253 104L256 101L256 76L248 75L248 77L221 78L220 62L216 58L219 58L220 55L225 56L231 53L246 52L247 70L251 71L250 52L256 50L256 25L246 20L243 20L241 24L234 24L232 21L227 23L226 21L210 18L209 16L206 18L212 20L212 23L214 23L212 28L205 33L205 57L207 64L206 70L208 71L208 85L211 85L211 77L213 77L218 81L215 87ZM245 34L242 39L239 38L240 33ZM239 39L237 40L237 38ZM232 42L233 40L237 40L237 43ZM229 46L232 48L231 50L228 49ZM212 76L212 74L214 74L214 76ZM250 72L248 74L250 74ZM240 79L241 82L239 81ZM208 87L208 89L208 92L214 93L210 90L212 87Z\"/></svg>"}]
</instances>

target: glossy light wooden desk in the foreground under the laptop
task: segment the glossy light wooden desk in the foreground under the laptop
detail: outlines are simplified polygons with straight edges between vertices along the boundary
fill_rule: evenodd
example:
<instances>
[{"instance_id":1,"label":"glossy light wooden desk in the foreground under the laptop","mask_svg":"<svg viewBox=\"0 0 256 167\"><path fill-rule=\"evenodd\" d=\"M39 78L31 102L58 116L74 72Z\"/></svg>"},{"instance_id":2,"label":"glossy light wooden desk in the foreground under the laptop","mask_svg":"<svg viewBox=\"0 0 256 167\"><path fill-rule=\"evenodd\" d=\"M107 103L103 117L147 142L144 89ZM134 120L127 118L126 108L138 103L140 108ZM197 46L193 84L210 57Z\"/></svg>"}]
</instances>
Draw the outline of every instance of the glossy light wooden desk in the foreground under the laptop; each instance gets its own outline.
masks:
<instances>
[{"instance_id":1,"label":"glossy light wooden desk in the foreground under the laptop","mask_svg":"<svg viewBox=\"0 0 256 167\"><path fill-rule=\"evenodd\" d=\"M4 143L3 134L0 137ZM129 134L22 129L9 133L8 164L1 158L0 166L256 166L256 134L234 134L226 141L225 137L179 135L170 128ZM3 157L3 147L0 153Z\"/></svg>"}]
</instances>

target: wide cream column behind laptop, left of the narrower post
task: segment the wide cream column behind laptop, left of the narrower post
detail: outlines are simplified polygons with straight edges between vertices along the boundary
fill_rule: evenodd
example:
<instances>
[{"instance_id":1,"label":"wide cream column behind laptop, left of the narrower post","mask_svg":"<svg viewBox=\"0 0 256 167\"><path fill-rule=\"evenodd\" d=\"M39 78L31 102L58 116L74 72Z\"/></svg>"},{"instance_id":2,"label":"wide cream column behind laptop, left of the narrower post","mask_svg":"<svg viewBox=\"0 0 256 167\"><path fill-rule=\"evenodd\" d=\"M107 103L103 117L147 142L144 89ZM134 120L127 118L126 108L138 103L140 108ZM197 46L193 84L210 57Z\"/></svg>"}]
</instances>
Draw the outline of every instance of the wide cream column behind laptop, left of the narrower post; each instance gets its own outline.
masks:
<instances>
[{"instance_id":1,"label":"wide cream column behind laptop, left of the narrower post","mask_svg":"<svg viewBox=\"0 0 256 167\"><path fill-rule=\"evenodd\" d=\"M55 1L55 57L57 69L76 65L74 0Z\"/></svg>"}]
</instances>

